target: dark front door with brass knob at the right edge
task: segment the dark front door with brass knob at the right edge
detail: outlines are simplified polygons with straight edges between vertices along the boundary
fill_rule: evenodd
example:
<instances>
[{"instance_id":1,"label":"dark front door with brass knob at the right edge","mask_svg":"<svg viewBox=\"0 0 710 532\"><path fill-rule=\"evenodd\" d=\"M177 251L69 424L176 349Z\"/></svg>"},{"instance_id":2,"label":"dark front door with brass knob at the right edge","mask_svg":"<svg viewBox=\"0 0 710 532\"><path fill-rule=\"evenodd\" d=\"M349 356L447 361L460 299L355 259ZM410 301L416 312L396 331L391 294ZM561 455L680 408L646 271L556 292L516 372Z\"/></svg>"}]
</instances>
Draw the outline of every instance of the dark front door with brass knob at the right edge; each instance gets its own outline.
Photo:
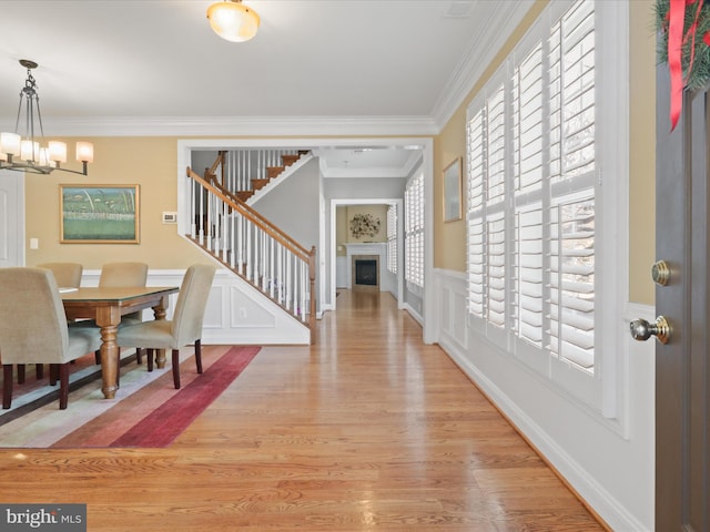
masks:
<instances>
[{"instance_id":1,"label":"dark front door with brass knob at the right edge","mask_svg":"<svg viewBox=\"0 0 710 532\"><path fill-rule=\"evenodd\" d=\"M656 311L671 327L656 347L656 530L663 532L710 531L709 91L686 92L671 133L668 68L658 68L656 257L670 279L657 285Z\"/></svg>"}]
</instances>

